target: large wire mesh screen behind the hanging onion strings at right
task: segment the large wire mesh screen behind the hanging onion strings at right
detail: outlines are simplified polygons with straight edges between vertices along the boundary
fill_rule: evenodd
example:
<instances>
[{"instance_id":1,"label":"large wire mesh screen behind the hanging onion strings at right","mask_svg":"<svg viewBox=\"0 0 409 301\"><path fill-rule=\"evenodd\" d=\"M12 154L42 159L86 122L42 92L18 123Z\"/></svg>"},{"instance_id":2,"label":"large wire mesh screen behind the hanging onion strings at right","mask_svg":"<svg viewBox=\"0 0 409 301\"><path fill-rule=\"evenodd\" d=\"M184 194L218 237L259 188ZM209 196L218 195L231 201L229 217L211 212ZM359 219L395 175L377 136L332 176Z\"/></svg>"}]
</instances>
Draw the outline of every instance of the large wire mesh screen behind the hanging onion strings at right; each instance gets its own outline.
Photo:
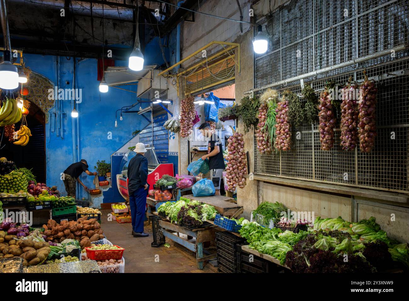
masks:
<instances>
[{"instance_id":1,"label":"large wire mesh screen behind the hanging onion strings at right","mask_svg":"<svg viewBox=\"0 0 409 301\"><path fill-rule=\"evenodd\" d=\"M269 49L255 54L254 86L263 87L409 43L409 2L405 0L291 1L261 22L270 35ZM362 83L362 71L375 82L377 137L370 153L343 151L340 129L335 145L322 151L317 122L292 128L289 152L261 154L254 145L258 174L342 185L409 192L409 52L407 49L330 70L304 79L317 96L326 81ZM300 81L275 86L297 93ZM259 91L258 94L263 93ZM340 120L337 109L337 120Z\"/></svg>"}]
</instances>

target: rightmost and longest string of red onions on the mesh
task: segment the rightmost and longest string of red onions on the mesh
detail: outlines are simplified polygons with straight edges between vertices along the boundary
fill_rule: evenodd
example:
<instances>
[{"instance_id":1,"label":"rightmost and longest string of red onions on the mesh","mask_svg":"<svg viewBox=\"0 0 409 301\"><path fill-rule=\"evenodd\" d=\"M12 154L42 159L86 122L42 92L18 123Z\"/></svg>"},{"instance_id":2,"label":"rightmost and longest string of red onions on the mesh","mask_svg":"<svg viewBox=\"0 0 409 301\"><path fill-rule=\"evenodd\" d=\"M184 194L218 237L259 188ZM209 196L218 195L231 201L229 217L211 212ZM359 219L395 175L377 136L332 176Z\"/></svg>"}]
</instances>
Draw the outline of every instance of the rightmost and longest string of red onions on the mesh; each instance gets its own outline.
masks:
<instances>
[{"instance_id":1,"label":"rightmost and longest string of red onions on the mesh","mask_svg":"<svg viewBox=\"0 0 409 301\"><path fill-rule=\"evenodd\" d=\"M365 74L365 73L364 73ZM361 152L371 152L376 136L376 93L378 89L365 75L365 81L360 87L359 97L359 140Z\"/></svg>"}]
</instances>

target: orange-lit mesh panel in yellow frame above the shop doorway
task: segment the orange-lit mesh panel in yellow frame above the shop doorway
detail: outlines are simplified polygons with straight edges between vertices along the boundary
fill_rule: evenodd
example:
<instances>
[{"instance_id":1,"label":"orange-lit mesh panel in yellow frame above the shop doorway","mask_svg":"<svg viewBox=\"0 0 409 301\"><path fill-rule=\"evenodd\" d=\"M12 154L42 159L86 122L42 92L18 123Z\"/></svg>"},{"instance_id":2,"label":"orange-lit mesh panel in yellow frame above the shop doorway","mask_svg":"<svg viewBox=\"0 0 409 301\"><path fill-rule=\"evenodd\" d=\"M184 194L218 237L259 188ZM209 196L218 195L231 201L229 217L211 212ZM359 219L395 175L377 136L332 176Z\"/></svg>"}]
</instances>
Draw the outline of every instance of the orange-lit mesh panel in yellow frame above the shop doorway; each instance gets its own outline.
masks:
<instances>
[{"instance_id":1,"label":"orange-lit mesh panel in yellow frame above the shop doorway","mask_svg":"<svg viewBox=\"0 0 409 301\"><path fill-rule=\"evenodd\" d=\"M234 59L235 56L231 55L216 63L207 62L203 65L203 68L198 68L198 70L187 75L185 95L234 79Z\"/></svg>"}]
</instances>

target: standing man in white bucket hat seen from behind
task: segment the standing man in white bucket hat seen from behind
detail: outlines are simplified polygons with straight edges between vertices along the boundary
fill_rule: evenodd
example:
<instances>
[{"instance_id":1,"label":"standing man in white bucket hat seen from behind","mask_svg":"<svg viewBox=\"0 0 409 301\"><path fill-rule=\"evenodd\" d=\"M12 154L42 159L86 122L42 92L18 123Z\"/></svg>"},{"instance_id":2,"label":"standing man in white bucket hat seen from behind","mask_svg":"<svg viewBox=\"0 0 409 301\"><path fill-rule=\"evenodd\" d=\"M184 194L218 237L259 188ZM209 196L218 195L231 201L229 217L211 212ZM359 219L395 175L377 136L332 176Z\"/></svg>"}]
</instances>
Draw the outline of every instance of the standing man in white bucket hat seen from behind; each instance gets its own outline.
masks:
<instances>
[{"instance_id":1,"label":"standing man in white bucket hat seen from behind","mask_svg":"<svg viewBox=\"0 0 409 301\"><path fill-rule=\"evenodd\" d=\"M137 143L133 150L137 153L130 159L128 165L128 193L132 216L133 237L146 237L144 233L144 214L146 210L146 195L148 192L148 160L144 157L146 148L143 143Z\"/></svg>"}]
</instances>

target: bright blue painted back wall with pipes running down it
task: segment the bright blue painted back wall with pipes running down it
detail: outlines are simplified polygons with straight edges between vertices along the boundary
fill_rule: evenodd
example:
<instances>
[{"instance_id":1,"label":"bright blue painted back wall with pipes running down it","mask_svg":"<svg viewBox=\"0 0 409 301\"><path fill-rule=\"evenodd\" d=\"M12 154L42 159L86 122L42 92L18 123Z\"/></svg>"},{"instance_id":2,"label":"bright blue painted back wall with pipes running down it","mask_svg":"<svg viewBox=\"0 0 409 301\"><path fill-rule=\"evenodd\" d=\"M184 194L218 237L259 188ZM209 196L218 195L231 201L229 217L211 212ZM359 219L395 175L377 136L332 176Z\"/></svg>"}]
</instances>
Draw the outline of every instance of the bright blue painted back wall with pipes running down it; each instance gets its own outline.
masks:
<instances>
[{"instance_id":1,"label":"bright blue painted back wall with pipes running down it","mask_svg":"<svg viewBox=\"0 0 409 301\"><path fill-rule=\"evenodd\" d=\"M151 65L154 63L162 64L164 62L162 53L160 52L157 40L146 45L145 64ZM167 54L169 56L169 54ZM44 56L37 54L25 54L26 66L47 77L54 84L58 82L58 88L72 88L73 82L73 58L59 57L59 72L56 68L57 58L54 56ZM77 59L78 60L78 59ZM115 61L115 66L127 66L127 61ZM66 84L69 81L69 84ZM122 88L136 91L137 85L121 86ZM62 195L66 195L63 181L60 179L60 174L71 163L77 162L80 159L85 159L88 162L89 170L95 171L94 165L98 160L110 162L110 156L119 147L124 145L132 137L132 132L143 129L147 124L142 116L136 113L123 114L124 120L119 120L118 127L115 127L115 111L122 106L128 106L137 101L136 94L116 88L109 88L108 93L99 93L99 81L97 81L97 59L81 59L76 63L76 88L82 89L82 102L76 104L76 109L79 111L78 124L76 119L71 117L73 102L63 100L61 103L62 110L65 113L63 118L63 138L56 135L54 130L53 118L49 118L46 124L46 172L47 186L57 186ZM144 104L145 107L147 104ZM49 111L49 116L52 117L56 112L56 107ZM73 120L74 122L72 122ZM73 151L73 127L77 128L79 133L79 156ZM75 132L75 131L74 131ZM108 134L112 133L112 139L109 139ZM88 176L85 173L80 177L81 181L93 188L92 183L94 177ZM116 189L116 188L115 188ZM88 198L82 186L77 189L77 197ZM112 193L112 192L111 192ZM107 197L110 197L108 193Z\"/></svg>"}]
</instances>

